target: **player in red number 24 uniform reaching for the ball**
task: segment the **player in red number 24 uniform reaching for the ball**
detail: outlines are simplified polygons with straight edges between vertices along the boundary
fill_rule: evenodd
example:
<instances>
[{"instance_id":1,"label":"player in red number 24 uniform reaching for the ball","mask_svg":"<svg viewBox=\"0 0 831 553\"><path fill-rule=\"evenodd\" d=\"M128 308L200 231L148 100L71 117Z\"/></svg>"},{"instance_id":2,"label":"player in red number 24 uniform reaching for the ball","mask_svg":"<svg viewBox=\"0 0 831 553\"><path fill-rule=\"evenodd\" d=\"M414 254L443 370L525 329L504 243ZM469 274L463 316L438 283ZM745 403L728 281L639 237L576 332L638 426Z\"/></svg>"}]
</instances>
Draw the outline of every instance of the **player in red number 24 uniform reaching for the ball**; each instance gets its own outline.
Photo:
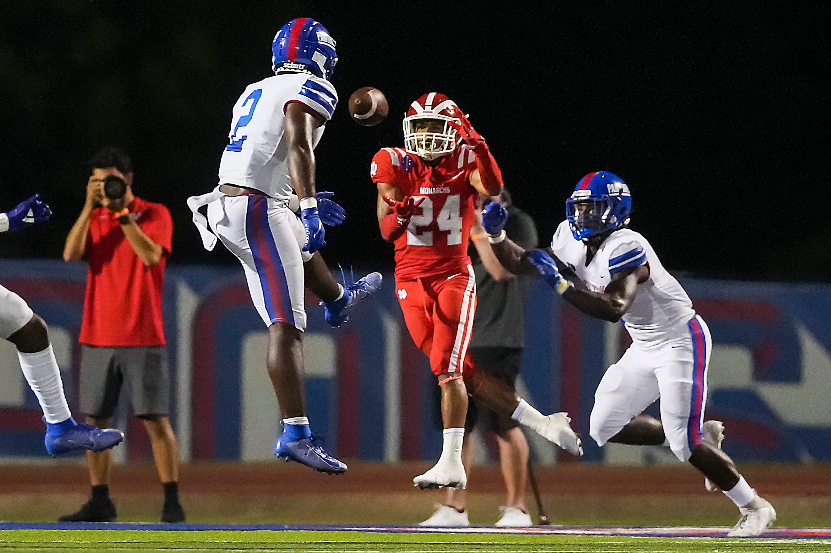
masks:
<instances>
[{"instance_id":1,"label":"player in red number 24 uniform reaching for the ball","mask_svg":"<svg viewBox=\"0 0 831 553\"><path fill-rule=\"evenodd\" d=\"M459 107L435 92L411 104L404 144L378 151L370 173L381 235L396 244L396 294L407 329L442 388L444 448L435 467L413 482L466 486L461 447L468 393L579 455L580 439L566 413L543 416L505 383L476 373L467 353L476 309L467 244L479 194L502 191L494 156Z\"/></svg>"}]
</instances>

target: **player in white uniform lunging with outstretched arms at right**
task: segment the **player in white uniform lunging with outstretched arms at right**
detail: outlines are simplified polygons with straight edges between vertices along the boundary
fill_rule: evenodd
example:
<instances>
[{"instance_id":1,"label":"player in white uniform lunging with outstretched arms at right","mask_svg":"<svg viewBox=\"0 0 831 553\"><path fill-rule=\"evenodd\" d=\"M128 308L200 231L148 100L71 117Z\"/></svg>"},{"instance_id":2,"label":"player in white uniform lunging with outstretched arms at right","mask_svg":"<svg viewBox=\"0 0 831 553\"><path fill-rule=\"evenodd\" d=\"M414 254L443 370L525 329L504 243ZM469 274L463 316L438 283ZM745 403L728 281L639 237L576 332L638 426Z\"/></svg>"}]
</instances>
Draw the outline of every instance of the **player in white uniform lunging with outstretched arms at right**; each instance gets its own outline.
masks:
<instances>
[{"instance_id":1,"label":"player in white uniform lunging with outstretched arms at right","mask_svg":"<svg viewBox=\"0 0 831 553\"><path fill-rule=\"evenodd\" d=\"M642 235L627 228L632 195L606 171L578 181L567 220L546 250L526 251L504 234L498 202L482 221L499 262L515 274L540 273L563 299L596 318L622 320L632 346L607 369L594 397L589 433L606 442L664 445L706 476L740 508L729 536L758 536L776 512L720 449L724 426L704 422L710 331L681 284ZM661 420L642 412L661 398Z\"/></svg>"}]
</instances>

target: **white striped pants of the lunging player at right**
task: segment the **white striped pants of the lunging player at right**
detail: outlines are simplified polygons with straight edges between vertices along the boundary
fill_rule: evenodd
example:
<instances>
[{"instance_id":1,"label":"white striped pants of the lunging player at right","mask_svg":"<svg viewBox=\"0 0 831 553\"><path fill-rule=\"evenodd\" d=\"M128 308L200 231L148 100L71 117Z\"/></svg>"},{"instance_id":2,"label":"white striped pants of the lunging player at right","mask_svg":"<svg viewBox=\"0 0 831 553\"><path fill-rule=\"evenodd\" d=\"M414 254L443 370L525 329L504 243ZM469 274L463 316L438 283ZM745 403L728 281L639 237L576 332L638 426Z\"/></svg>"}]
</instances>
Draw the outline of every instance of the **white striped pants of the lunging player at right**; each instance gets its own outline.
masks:
<instances>
[{"instance_id":1,"label":"white striped pants of the lunging player at right","mask_svg":"<svg viewBox=\"0 0 831 553\"><path fill-rule=\"evenodd\" d=\"M632 343L597 385L589 422L597 445L608 442L660 397L669 447L681 461L689 459L701 443L711 348L710 330L697 315L661 343Z\"/></svg>"}]
</instances>

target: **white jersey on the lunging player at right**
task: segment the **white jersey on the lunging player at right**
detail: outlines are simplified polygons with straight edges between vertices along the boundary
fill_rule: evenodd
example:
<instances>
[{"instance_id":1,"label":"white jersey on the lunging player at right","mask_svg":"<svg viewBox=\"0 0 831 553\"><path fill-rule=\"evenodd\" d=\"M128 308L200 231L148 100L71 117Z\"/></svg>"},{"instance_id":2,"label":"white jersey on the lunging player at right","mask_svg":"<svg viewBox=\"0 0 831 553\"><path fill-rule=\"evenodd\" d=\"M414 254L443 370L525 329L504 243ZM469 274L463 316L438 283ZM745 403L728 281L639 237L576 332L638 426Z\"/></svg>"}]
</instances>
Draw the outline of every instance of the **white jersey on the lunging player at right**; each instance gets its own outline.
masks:
<instances>
[{"instance_id":1,"label":"white jersey on the lunging player at right","mask_svg":"<svg viewBox=\"0 0 831 553\"><path fill-rule=\"evenodd\" d=\"M612 274L648 264L649 279L637 285L637 294L623 322L632 340L642 345L661 343L688 333L686 323L696 316L690 297L669 274L655 250L634 230L616 230L603 240L591 263L586 264L588 248L575 239L568 221L557 227L551 249L571 266L588 289L602 292L612 281Z\"/></svg>"}]
</instances>

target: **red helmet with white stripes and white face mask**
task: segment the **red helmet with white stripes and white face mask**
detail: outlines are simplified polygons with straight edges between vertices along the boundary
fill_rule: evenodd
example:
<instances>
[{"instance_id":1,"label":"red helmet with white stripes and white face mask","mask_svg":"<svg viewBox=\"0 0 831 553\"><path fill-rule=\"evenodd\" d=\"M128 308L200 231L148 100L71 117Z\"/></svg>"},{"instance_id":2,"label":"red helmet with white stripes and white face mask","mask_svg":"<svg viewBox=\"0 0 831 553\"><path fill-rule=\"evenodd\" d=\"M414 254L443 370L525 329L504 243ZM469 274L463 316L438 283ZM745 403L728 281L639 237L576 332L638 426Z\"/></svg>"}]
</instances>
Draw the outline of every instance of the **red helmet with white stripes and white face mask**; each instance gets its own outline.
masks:
<instances>
[{"instance_id":1,"label":"red helmet with white stripes and white face mask","mask_svg":"<svg viewBox=\"0 0 831 553\"><path fill-rule=\"evenodd\" d=\"M461 110L444 94L429 92L410 105L404 116L404 149L424 160L435 160L456 149Z\"/></svg>"}]
</instances>

